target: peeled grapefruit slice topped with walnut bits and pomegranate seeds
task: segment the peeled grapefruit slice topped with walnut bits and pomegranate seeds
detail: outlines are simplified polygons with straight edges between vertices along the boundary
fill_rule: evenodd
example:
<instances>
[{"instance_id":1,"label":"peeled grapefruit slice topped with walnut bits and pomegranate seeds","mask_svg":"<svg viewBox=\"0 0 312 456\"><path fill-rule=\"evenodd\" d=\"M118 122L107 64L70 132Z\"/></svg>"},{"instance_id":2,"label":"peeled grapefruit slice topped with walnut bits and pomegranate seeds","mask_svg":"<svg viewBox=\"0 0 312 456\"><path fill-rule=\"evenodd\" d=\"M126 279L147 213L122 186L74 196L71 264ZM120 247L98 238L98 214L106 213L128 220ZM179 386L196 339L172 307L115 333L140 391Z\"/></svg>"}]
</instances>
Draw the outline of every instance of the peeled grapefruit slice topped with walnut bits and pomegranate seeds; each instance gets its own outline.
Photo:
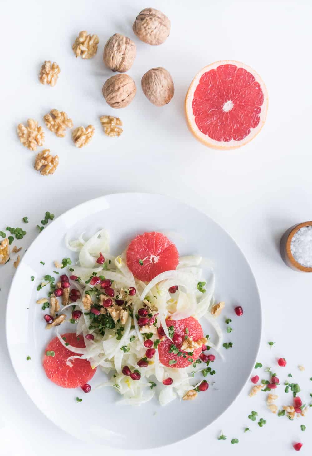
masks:
<instances>
[{"instance_id":1,"label":"peeled grapefruit slice topped with walnut bits and pomegranate seeds","mask_svg":"<svg viewBox=\"0 0 312 456\"><path fill-rule=\"evenodd\" d=\"M188 337L192 337L193 341L197 341L198 339L201 339L203 337L203 329L202 326L200 326L200 323L196 318L193 318L192 316L189 316L188 318L183 318L182 320L166 320L167 326L173 326L174 327L174 334L177 334L182 337L182 342L184 341L184 337L187 335ZM188 329L188 332L186 332L186 328ZM194 361L196 361L199 357L199 355L202 352L202 348L196 348L193 351L192 355L188 355L187 352L182 351L182 355L178 356L177 354L174 354L170 352L170 347L172 345L172 341L166 337L165 340L163 340L159 345L158 345L158 352L159 352L159 361L161 364L164 366L167 366L168 368L186 368L190 364L192 364ZM176 345L177 348L180 348L182 344ZM183 356L183 353L185 355L185 358ZM192 361L190 361L192 359ZM170 361L176 361L176 363L169 363Z\"/></svg>"}]
</instances>

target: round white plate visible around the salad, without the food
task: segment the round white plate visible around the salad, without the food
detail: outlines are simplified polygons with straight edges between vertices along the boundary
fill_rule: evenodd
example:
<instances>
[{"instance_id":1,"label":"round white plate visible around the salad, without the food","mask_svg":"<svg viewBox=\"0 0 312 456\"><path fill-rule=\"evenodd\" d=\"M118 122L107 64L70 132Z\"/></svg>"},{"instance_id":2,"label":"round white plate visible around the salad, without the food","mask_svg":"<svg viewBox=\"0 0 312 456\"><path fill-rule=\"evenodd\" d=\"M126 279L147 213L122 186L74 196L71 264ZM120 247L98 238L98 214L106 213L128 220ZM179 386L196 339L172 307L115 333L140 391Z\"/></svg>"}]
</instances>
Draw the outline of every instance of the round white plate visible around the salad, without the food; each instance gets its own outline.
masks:
<instances>
[{"instance_id":1,"label":"round white plate visible around the salad, without the food","mask_svg":"<svg viewBox=\"0 0 312 456\"><path fill-rule=\"evenodd\" d=\"M234 345L228 350L221 348L225 361L217 355L213 364L216 374L207 378L210 388L196 400L175 400L166 407L161 407L156 399L140 407L121 406L117 404L120 395L113 389L84 394L81 389L62 389L46 377L42 357L54 332L45 330L45 312L36 304L47 292L38 292L36 286L43 275L52 274L55 259L74 258L64 245L65 233L72 238L82 231L91 235L100 228L109 230L112 253L120 253L136 234L155 230L170 237L181 255L200 254L212 261L215 298L226 303L219 321L225 330L225 317L232 319L233 332L225 333L224 340ZM35 276L34 282L31 275ZM234 313L237 305L244 309L241 317ZM206 327L204 333L205 330L208 331ZM62 332L67 331L73 331L72 324L62 325ZM213 332L209 334L214 337ZM168 445L210 425L243 388L255 364L260 335L257 285L234 240L198 210L168 197L141 193L115 194L85 202L47 226L16 270L6 313L6 336L13 366L42 413L77 438L128 450ZM27 355L31 361L26 361ZM104 377L98 369L92 385ZM76 396L83 398L83 402L77 403ZM192 419L178 419L182 416Z\"/></svg>"}]
</instances>

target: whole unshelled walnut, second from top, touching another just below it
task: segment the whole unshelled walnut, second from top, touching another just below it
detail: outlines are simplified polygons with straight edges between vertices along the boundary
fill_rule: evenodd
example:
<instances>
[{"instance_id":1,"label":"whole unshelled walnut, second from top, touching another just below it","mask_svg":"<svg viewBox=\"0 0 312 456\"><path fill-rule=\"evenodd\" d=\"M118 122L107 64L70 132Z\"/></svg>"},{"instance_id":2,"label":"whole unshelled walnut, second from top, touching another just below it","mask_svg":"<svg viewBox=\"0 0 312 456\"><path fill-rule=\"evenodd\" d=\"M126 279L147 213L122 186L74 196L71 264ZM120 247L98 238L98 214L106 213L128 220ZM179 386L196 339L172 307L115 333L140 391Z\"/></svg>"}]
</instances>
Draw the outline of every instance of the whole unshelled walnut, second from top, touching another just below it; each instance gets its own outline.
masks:
<instances>
[{"instance_id":1,"label":"whole unshelled walnut, second from top, touching another just below it","mask_svg":"<svg viewBox=\"0 0 312 456\"><path fill-rule=\"evenodd\" d=\"M115 33L104 46L103 62L113 71L125 73L134 62L135 43L127 36Z\"/></svg>"}]
</instances>

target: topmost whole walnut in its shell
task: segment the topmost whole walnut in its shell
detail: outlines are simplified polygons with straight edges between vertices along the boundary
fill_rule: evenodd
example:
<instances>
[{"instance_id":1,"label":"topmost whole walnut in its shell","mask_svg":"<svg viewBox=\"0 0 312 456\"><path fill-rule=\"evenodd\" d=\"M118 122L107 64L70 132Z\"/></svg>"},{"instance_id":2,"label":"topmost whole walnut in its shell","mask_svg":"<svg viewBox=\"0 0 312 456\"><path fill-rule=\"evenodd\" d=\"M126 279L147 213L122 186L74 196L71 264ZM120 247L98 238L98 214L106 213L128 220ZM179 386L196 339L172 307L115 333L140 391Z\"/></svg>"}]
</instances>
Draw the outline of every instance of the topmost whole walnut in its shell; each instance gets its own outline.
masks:
<instances>
[{"instance_id":1,"label":"topmost whole walnut in its shell","mask_svg":"<svg viewBox=\"0 0 312 456\"><path fill-rule=\"evenodd\" d=\"M161 11L145 8L136 16L132 29L141 41L158 45L166 41L170 26L169 19Z\"/></svg>"}]
</instances>

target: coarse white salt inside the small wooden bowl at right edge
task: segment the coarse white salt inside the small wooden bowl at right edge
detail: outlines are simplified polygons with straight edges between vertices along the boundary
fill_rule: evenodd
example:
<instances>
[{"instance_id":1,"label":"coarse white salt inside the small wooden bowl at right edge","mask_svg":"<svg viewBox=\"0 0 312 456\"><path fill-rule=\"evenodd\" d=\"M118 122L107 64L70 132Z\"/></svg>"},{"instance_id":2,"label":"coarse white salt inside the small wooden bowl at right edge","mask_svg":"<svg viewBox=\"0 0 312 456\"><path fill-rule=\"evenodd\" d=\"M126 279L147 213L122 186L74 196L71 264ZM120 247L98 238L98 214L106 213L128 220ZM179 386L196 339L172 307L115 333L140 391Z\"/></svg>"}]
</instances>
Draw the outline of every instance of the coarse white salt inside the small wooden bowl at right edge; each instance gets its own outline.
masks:
<instances>
[{"instance_id":1,"label":"coarse white salt inside the small wooden bowl at right edge","mask_svg":"<svg viewBox=\"0 0 312 456\"><path fill-rule=\"evenodd\" d=\"M291 239L291 254L294 259L306 266L312 267L312 226L300 228Z\"/></svg>"}]
</instances>

